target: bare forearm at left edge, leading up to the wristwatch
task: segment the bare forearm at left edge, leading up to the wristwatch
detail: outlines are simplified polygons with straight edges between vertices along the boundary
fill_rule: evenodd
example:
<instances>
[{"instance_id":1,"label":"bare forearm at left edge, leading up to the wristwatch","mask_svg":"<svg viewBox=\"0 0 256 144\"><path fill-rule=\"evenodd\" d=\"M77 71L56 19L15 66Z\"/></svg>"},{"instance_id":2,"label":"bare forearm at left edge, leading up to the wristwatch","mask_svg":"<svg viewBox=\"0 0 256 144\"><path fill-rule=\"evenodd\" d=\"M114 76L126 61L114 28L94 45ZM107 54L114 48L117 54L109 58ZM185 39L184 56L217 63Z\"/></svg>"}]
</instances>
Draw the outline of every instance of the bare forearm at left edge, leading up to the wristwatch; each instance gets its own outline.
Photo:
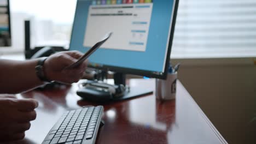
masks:
<instances>
[{"instance_id":1,"label":"bare forearm at left edge, leading up to the wristwatch","mask_svg":"<svg viewBox=\"0 0 256 144\"><path fill-rule=\"evenodd\" d=\"M20 93L43 85L36 75L38 60L0 60L0 93Z\"/></svg>"}]
</instances>

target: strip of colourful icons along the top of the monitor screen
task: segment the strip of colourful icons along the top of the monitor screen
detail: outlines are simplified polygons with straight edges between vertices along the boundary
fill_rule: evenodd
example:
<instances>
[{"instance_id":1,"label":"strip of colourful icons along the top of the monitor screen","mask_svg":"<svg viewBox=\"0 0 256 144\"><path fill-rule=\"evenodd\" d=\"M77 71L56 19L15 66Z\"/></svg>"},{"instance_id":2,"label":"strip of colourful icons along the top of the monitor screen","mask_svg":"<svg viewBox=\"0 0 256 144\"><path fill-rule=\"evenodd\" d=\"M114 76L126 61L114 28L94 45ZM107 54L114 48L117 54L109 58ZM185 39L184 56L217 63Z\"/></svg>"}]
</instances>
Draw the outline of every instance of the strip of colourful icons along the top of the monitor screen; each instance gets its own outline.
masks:
<instances>
[{"instance_id":1,"label":"strip of colourful icons along the top of the monitor screen","mask_svg":"<svg viewBox=\"0 0 256 144\"><path fill-rule=\"evenodd\" d=\"M92 5L153 3L153 0L94 0Z\"/></svg>"}]
</instances>

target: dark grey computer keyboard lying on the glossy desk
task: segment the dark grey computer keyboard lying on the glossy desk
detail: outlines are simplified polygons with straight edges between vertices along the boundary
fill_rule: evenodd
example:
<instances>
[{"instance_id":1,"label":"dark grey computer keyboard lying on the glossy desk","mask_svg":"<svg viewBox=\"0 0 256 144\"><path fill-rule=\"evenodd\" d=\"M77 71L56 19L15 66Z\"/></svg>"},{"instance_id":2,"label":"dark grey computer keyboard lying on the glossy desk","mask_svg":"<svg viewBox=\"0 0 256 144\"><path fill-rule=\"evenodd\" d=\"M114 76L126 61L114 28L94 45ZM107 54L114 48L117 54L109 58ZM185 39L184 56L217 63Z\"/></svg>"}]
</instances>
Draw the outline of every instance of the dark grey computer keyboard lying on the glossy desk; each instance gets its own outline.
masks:
<instances>
[{"instance_id":1,"label":"dark grey computer keyboard lying on the glossy desk","mask_svg":"<svg viewBox=\"0 0 256 144\"><path fill-rule=\"evenodd\" d=\"M67 111L51 128L42 144L95 143L102 115L103 106Z\"/></svg>"}]
</instances>

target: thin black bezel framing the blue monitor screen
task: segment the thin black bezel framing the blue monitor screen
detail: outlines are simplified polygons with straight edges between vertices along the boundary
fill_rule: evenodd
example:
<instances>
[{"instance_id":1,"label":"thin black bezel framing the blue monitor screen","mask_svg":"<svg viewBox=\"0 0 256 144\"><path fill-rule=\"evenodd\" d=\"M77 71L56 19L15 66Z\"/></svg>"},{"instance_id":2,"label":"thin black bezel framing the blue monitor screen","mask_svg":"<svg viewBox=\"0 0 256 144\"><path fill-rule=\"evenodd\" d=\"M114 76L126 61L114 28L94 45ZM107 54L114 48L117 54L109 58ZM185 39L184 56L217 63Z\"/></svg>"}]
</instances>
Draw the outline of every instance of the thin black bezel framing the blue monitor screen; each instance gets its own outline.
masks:
<instances>
[{"instance_id":1,"label":"thin black bezel framing the blue monitor screen","mask_svg":"<svg viewBox=\"0 0 256 144\"><path fill-rule=\"evenodd\" d=\"M175 25L176 25L179 0L173 0L173 3L174 4L173 4L170 39L169 39L169 43L168 43L167 56L166 56L166 60L165 60L166 61L165 62L165 70L162 74L160 74L161 73L160 71L156 72L156 71L148 71L148 70L141 70L141 69L131 69L131 68L125 68L125 67L115 67L113 65L99 64L101 66L96 66L94 64L89 63L88 67L94 68L94 69L106 70L106 71L114 71L114 72L123 73L123 74L147 76L147 77L156 78L156 79L166 79L167 74L168 74L168 66L169 66L169 62L170 62L170 55L171 55L171 49L172 49L172 43L173 43L174 29L175 29ZM77 2L77 5L78 5L78 2ZM77 8L77 5L76 5L76 8ZM74 16L74 20L75 20L75 16ZM74 31L74 21L73 21L73 27L72 27L72 32L71 32L71 40L73 37L73 31ZM71 43L69 45L69 50L70 50L70 47L71 47Z\"/></svg>"}]
</instances>

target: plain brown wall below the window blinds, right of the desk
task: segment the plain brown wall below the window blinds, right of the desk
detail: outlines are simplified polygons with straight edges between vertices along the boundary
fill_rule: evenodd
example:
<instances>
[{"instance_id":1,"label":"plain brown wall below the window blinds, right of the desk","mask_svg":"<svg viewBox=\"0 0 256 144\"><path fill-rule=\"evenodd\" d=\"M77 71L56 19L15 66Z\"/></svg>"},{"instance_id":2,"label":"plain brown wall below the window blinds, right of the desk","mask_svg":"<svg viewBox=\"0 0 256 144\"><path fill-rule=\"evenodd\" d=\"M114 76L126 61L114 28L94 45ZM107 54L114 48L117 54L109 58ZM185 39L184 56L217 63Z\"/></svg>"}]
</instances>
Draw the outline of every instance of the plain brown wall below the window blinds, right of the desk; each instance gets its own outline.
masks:
<instances>
[{"instance_id":1,"label":"plain brown wall below the window blinds, right of the desk","mask_svg":"<svg viewBox=\"0 0 256 144\"><path fill-rule=\"evenodd\" d=\"M256 65L253 58L173 59L178 77L229 143L255 143ZM254 140L253 140L254 139Z\"/></svg>"}]
</instances>

